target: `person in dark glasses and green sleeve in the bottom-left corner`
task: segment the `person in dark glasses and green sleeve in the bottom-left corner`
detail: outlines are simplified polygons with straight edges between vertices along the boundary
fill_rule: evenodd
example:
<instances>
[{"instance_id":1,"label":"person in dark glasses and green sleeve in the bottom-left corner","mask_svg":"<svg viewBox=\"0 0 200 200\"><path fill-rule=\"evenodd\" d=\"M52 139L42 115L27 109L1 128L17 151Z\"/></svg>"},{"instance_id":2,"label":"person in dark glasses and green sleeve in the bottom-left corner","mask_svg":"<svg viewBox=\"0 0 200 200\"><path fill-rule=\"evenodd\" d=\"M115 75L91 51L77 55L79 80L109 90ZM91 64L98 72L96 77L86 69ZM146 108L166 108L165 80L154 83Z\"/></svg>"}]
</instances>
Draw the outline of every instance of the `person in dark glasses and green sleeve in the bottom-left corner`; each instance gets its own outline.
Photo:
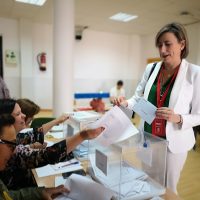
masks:
<instances>
[{"instance_id":1,"label":"person in dark glasses and green sleeve in the bottom-left corner","mask_svg":"<svg viewBox=\"0 0 200 200\"><path fill-rule=\"evenodd\" d=\"M6 168L16 147L15 122L11 115L0 115L0 171ZM6 200L49 200L53 195L69 192L62 185L56 188L29 187L20 190L8 190L0 179L0 199Z\"/></svg>"}]
</instances>

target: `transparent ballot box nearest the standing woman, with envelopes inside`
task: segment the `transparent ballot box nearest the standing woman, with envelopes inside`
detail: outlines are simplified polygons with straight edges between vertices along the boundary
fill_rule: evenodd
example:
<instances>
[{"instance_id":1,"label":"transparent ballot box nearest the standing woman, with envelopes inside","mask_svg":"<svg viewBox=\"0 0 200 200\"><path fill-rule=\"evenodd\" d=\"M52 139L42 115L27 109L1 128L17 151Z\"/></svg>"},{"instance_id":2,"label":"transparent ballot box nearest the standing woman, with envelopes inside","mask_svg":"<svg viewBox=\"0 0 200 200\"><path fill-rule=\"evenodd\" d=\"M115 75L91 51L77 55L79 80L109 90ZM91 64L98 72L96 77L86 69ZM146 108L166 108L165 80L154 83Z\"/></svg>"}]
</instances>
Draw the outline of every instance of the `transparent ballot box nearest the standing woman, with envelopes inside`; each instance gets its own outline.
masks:
<instances>
[{"instance_id":1,"label":"transparent ballot box nearest the standing woman, with envelopes inside","mask_svg":"<svg viewBox=\"0 0 200 200\"><path fill-rule=\"evenodd\" d=\"M89 142L89 173L113 191L113 199L148 199L165 193L167 142L148 133L101 146Z\"/></svg>"}]
</instances>

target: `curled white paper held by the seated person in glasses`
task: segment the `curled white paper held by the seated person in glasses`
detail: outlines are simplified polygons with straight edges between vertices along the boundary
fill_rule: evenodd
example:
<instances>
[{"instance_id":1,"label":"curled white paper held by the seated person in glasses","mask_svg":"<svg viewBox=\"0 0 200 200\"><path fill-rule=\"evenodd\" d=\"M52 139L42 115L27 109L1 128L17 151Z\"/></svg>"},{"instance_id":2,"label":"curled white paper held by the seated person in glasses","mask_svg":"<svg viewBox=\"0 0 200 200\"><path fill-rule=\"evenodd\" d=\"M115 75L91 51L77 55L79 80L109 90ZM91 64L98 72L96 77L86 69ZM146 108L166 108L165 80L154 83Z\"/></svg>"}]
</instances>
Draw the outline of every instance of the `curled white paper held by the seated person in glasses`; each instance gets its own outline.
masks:
<instances>
[{"instance_id":1,"label":"curled white paper held by the seated person in glasses","mask_svg":"<svg viewBox=\"0 0 200 200\"><path fill-rule=\"evenodd\" d=\"M69 193L65 193L66 197L73 200L111 200L115 195L103 185L78 174L72 174L66 180L65 187L70 189ZM64 195L56 199L64 199Z\"/></svg>"}]
</instances>

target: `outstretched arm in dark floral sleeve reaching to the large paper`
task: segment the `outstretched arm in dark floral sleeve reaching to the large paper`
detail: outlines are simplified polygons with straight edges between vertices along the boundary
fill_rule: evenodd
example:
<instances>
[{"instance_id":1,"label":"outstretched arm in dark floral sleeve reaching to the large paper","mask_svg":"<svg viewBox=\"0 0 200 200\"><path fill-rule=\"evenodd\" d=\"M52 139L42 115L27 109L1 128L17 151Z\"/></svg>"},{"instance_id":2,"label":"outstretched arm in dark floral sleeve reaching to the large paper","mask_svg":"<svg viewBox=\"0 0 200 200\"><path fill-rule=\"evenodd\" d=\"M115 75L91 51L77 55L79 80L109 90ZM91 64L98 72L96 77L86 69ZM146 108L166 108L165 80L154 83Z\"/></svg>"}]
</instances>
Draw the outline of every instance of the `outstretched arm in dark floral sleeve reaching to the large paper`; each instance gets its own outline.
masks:
<instances>
[{"instance_id":1,"label":"outstretched arm in dark floral sleeve reaching to the large paper","mask_svg":"<svg viewBox=\"0 0 200 200\"><path fill-rule=\"evenodd\" d=\"M45 149L31 149L30 147L18 145L15 150L13 159L17 159L17 165L19 168L36 168L47 164L55 164L63 161L64 159L70 159L70 152L73 151L77 145L84 140L96 138L104 129L97 128L92 130L81 131L80 133L62 140L54 144L51 147ZM11 162L12 163L12 162ZM9 166L12 167L12 166Z\"/></svg>"}]
</instances>

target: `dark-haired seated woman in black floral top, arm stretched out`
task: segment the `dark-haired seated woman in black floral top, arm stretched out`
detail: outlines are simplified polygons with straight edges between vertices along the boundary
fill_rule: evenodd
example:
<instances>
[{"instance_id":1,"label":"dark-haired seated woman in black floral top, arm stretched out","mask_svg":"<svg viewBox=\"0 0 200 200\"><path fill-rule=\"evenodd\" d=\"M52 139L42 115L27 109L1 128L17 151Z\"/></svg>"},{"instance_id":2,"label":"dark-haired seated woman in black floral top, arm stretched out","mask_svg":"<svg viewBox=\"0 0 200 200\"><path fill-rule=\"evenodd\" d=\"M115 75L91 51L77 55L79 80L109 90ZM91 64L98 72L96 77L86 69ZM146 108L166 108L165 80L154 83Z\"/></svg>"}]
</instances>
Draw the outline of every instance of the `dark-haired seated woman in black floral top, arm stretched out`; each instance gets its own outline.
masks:
<instances>
[{"instance_id":1,"label":"dark-haired seated woman in black floral top, arm stretched out","mask_svg":"<svg viewBox=\"0 0 200 200\"><path fill-rule=\"evenodd\" d=\"M16 133L25 128L25 115L14 99L0 99L0 113L11 114L15 118L14 127ZM29 131L26 140L21 140L17 134L17 147L14 155L8 162L6 169L0 173L0 178L8 188L21 188L34 185L32 180L32 168L47 164L55 164L65 159L70 159L70 152L84 140L96 138L103 128L84 130L70 138L62 140L51 147L44 149L32 149L27 144L41 140L42 132ZM26 134L26 133L25 133ZM44 139L44 138L43 138ZM23 141L23 144L20 142ZM42 142L42 141L41 141Z\"/></svg>"}]
</instances>

